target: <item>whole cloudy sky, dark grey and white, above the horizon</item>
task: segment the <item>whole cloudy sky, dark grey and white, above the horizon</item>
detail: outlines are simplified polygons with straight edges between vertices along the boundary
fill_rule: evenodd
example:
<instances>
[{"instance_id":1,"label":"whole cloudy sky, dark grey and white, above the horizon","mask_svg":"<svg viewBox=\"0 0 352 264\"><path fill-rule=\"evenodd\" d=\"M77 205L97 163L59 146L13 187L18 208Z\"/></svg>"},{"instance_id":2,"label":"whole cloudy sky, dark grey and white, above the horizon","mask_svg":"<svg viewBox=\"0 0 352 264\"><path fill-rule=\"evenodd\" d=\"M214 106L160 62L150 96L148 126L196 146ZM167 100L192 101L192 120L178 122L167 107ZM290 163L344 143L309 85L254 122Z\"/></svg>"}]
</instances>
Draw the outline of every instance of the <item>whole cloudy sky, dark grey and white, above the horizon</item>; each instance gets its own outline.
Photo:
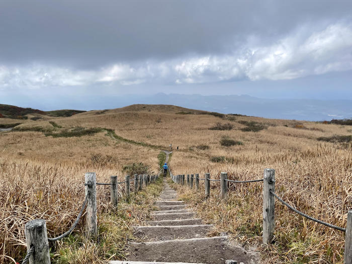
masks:
<instances>
[{"instance_id":1,"label":"whole cloudy sky, dark grey and white, above the horizon","mask_svg":"<svg viewBox=\"0 0 352 264\"><path fill-rule=\"evenodd\" d=\"M352 100L350 0L2 0L0 25L4 104L84 98L95 109L160 92Z\"/></svg>"}]
</instances>

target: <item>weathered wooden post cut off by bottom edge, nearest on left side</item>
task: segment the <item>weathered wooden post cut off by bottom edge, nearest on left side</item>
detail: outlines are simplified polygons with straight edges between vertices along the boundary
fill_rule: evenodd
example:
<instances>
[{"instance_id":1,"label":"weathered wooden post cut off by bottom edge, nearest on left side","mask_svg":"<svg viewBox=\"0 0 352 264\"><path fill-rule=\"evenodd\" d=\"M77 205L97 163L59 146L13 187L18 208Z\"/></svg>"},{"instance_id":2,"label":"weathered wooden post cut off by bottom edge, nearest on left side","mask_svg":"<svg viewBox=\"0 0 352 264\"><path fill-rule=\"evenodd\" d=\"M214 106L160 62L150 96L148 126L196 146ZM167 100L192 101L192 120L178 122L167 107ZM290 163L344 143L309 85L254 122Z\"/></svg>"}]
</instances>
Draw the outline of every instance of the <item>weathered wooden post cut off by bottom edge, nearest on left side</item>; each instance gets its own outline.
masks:
<instances>
[{"instance_id":1,"label":"weathered wooden post cut off by bottom edge, nearest on left side","mask_svg":"<svg viewBox=\"0 0 352 264\"><path fill-rule=\"evenodd\" d=\"M50 264L49 242L46 223L43 219L29 221L25 225L27 252L34 246L34 253L29 258L30 264Z\"/></svg>"}]
</instances>

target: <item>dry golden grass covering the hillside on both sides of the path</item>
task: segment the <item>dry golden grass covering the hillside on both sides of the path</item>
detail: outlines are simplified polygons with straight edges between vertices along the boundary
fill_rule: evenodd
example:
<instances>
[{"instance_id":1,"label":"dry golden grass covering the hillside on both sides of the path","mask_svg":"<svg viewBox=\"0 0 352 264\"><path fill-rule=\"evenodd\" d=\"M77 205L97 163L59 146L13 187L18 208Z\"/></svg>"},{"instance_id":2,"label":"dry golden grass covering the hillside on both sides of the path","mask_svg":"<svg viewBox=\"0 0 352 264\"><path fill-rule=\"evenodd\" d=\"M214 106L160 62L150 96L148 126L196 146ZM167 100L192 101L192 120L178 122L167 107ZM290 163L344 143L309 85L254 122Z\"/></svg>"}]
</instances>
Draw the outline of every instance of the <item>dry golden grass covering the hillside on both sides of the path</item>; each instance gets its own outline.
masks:
<instances>
[{"instance_id":1,"label":"dry golden grass covering the hillside on both sides of the path","mask_svg":"<svg viewBox=\"0 0 352 264\"><path fill-rule=\"evenodd\" d=\"M134 143L113 139L106 131L68 138L46 137L42 132L32 131L0 132L0 255L19 259L19 252L24 252L24 223L30 219L45 218L50 236L65 231L83 199L84 172L96 171L99 181L107 181L112 174L122 180L123 165L132 162L143 162L157 171L156 146L167 148L170 143L174 150L180 148L172 154L174 174L210 172L212 178L219 178L221 171L227 171L230 179L251 180L262 178L263 169L274 168L277 193L285 200L321 220L346 225L346 213L352 209L351 143L334 144L317 138L350 135L351 127L243 116L220 118L201 112L174 106L136 105L69 118L26 120L19 126L42 127L54 133L72 127L100 127L112 129ZM62 128L54 128L48 121ZM266 129L242 131L246 125L241 121L257 122ZM231 123L234 128L209 130L219 122ZM221 146L224 136L243 145ZM92 156L99 154L102 159L98 163L92 161ZM231 162L211 162L214 156L225 156ZM206 221L215 222L219 232L229 232L242 242L259 243L261 184L231 184L227 205L218 201L217 183L212 183L212 188L210 200L205 201L202 192L187 190L183 198ZM106 212L108 193L102 191L99 195L99 210ZM302 219L279 202L275 236L275 245L262 248L270 263L342 263L342 232Z\"/></svg>"}]
</instances>

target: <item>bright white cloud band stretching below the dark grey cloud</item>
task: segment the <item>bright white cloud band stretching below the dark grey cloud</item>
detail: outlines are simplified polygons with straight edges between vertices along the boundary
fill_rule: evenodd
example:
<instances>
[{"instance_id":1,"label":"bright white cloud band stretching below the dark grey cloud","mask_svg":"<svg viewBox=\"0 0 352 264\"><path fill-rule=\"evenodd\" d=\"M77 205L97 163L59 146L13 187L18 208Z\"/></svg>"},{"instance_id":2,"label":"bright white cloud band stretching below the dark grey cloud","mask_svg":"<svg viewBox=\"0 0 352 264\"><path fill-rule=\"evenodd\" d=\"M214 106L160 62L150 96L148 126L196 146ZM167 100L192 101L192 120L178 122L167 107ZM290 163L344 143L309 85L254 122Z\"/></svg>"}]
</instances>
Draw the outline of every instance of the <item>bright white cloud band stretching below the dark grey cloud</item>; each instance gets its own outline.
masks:
<instances>
[{"instance_id":1,"label":"bright white cloud band stretching below the dark grey cloud","mask_svg":"<svg viewBox=\"0 0 352 264\"><path fill-rule=\"evenodd\" d=\"M257 39L248 37L246 44L232 54L145 61L138 67L116 63L84 71L42 64L0 65L0 89L153 81L205 83L243 78L279 80L352 69L351 25L333 24L309 34L307 31L307 26L302 27L267 46L258 45Z\"/></svg>"}]
</instances>

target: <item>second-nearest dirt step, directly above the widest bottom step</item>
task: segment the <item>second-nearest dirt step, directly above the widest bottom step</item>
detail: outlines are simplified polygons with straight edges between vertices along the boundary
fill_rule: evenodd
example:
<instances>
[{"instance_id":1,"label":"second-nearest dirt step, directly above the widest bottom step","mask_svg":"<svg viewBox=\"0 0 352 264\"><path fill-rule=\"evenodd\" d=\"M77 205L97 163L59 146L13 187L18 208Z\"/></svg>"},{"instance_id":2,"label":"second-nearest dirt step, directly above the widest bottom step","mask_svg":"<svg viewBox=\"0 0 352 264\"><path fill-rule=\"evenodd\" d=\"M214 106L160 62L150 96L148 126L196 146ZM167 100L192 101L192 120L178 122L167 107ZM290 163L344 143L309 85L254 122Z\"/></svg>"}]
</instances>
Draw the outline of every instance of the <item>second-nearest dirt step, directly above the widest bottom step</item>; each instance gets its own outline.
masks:
<instances>
[{"instance_id":1,"label":"second-nearest dirt step, directly above the widest bottom step","mask_svg":"<svg viewBox=\"0 0 352 264\"><path fill-rule=\"evenodd\" d=\"M153 241L206 237L213 225L136 226L135 235Z\"/></svg>"}]
</instances>

